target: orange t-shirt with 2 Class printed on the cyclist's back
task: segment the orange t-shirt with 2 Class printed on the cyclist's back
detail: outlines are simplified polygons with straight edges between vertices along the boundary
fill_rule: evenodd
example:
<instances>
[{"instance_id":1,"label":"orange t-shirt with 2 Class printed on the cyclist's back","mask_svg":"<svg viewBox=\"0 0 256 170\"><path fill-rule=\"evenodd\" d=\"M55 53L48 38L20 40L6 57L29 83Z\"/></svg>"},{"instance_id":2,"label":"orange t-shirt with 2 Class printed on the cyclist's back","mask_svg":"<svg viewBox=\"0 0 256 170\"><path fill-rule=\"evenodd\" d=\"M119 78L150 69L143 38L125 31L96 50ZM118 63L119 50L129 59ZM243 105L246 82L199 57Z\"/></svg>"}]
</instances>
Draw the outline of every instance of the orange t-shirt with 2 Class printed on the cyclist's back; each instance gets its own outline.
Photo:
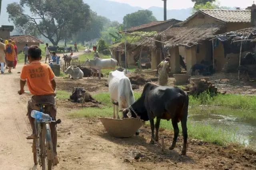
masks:
<instances>
[{"instance_id":1,"label":"orange t-shirt with 2 Class printed on the cyclist's back","mask_svg":"<svg viewBox=\"0 0 256 170\"><path fill-rule=\"evenodd\" d=\"M51 81L55 75L48 64L32 61L22 68L20 79L28 82L28 89L32 95L52 95L54 90Z\"/></svg>"}]
</instances>

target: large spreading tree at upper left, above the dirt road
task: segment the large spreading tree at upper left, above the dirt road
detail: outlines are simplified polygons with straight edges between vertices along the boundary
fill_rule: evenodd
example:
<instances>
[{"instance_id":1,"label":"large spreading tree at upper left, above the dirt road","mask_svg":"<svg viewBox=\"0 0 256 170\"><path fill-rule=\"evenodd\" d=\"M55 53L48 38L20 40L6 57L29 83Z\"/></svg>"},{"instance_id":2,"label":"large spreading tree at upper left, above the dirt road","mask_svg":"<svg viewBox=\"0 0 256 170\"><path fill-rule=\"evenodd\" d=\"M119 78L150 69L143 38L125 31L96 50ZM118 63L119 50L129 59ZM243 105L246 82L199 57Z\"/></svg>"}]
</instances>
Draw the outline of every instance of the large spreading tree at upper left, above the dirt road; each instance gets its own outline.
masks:
<instances>
[{"instance_id":1,"label":"large spreading tree at upper left, above the dirt road","mask_svg":"<svg viewBox=\"0 0 256 170\"><path fill-rule=\"evenodd\" d=\"M41 34L53 45L85 29L90 19L90 6L82 0L20 0L20 4L8 4L7 12L16 27Z\"/></svg>"}]
</instances>

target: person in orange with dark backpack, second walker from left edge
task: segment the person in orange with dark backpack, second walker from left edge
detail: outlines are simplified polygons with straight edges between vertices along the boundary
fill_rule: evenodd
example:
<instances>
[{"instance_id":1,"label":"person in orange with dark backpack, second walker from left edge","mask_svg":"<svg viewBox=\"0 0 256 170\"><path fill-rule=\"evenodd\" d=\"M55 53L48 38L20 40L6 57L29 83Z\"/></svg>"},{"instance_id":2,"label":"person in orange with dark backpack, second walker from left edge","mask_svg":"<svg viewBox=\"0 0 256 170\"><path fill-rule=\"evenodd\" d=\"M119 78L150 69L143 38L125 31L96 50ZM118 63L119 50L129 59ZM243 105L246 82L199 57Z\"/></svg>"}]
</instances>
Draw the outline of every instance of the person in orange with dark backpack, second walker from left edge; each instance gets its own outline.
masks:
<instances>
[{"instance_id":1,"label":"person in orange with dark backpack, second walker from left edge","mask_svg":"<svg viewBox=\"0 0 256 170\"><path fill-rule=\"evenodd\" d=\"M6 64L8 66L8 73L12 73L12 67L14 67L14 58L15 58L15 49L14 45L12 45L12 40L8 40L8 44L5 45L6 51Z\"/></svg>"}]
</instances>

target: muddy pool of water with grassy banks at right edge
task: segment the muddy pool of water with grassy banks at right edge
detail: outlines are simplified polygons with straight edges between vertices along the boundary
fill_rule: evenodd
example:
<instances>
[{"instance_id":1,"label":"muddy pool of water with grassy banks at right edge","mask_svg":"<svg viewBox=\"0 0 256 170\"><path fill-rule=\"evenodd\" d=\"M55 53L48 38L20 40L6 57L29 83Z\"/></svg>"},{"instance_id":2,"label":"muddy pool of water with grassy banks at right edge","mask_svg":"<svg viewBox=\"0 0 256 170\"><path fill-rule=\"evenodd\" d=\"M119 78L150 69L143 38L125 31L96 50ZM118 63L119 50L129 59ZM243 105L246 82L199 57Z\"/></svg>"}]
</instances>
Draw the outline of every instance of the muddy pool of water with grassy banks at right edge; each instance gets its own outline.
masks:
<instances>
[{"instance_id":1,"label":"muddy pool of water with grassy banks at right edge","mask_svg":"<svg viewBox=\"0 0 256 170\"><path fill-rule=\"evenodd\" d=\"M189 111L189 119L234 134L234 140L256 148L256 113L248 110L201 107Z\"/></svg>"}]
</instances>

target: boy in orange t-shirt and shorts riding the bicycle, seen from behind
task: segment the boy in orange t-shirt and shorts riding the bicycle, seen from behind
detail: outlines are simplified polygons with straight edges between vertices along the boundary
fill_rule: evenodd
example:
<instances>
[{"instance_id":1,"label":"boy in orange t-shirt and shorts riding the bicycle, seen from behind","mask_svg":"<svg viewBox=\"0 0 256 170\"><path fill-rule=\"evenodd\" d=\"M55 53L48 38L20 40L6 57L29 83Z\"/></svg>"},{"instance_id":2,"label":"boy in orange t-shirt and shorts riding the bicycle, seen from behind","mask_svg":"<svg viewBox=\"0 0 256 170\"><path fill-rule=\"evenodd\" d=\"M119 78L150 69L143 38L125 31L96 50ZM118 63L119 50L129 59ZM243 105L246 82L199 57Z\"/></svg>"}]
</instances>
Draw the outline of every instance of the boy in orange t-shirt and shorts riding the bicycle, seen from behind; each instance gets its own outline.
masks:
<instances>
[{"instance_id":1,"label":"boy in orange t-shirt and shorts riding the bicycle, seen from behind","mask_svg":"<svg viewBox=\"0 0 256 170\"><path fill-rule=\"evenodd\" d=\"M38 106L36 103L46 102L52 103L52 106L49 106L50 116L56 120L56 105L55 105L55 89L56 82L54 80L54 73L48 64L41 63L40 60L42 50L36 46L32 45L28 49L28 60L30 64L24 65L22 68L22 72L20 75L20 90L18 93L22 95L24 93L24 86L26 81L28 82L28 89L30 93L33 95L31 100L28 101L28 119L30 121L30 125L32 127L33 133L28 136L28 139L36 138L36 127L34 124L34 118L31 117L32 110L38 110ZM54 165L57 165L58 157L57 157L57 131L54 124L50 124L51 132L52 132L52 143L54 149Z\"/></svg>"}]
</instances>

